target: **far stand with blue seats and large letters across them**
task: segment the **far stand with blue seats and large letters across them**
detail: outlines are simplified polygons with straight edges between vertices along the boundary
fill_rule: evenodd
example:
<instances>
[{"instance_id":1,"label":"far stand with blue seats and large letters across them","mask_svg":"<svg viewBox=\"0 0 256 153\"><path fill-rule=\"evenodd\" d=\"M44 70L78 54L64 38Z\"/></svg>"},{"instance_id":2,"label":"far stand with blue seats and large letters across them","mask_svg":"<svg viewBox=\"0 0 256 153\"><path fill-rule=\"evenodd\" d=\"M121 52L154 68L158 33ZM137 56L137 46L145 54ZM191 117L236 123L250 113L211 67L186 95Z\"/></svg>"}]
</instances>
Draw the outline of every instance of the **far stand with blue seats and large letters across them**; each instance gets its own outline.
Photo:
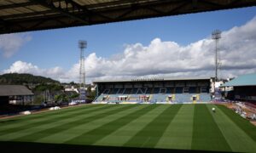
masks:
<instances>
[{"instance_id":1,"label":"far stand with blue seats and large letters across them","mask_svg":"<svg viewBox=\"0 0 256 153\"><path fill-rule=\"evenodd\" d=\"M95 81L95 104L205 103L211 101L212 78L154 78Z\"/></svg>"}]
</instances>

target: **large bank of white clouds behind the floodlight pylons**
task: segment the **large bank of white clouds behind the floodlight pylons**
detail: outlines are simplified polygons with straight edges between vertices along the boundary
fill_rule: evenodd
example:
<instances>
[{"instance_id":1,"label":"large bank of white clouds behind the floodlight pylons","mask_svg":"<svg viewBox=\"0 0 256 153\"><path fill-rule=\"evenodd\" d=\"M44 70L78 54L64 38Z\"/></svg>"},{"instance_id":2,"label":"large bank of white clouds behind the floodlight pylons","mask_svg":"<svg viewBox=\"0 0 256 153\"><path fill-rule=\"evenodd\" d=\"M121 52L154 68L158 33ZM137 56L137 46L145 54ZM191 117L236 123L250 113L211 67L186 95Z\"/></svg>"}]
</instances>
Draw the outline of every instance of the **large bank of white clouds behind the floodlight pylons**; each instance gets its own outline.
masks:
<instances>
[{"instance_id":1,"label":"large bank of white clouds behind the floodlight pylons","mask_svg":"<svg viewBox=\"0 0 256 153\"><path fill-rule=\"evenodd\" d=\"M222 62L221 77L256 71L256 18L245 25L222 33L219 42ZM84 61L87 80L137 77L214 77L214 47L211 37L181 46L155 38L148 46L141 43L125 47L123 54L106 59L90 54ZM56 78L62 82L79 81L79 63L69 71L60 67L39 69L30 63L17 61L10 66L14 72ZM90 82L90 81L89 81Z\"/></svg>"}]
</instances>

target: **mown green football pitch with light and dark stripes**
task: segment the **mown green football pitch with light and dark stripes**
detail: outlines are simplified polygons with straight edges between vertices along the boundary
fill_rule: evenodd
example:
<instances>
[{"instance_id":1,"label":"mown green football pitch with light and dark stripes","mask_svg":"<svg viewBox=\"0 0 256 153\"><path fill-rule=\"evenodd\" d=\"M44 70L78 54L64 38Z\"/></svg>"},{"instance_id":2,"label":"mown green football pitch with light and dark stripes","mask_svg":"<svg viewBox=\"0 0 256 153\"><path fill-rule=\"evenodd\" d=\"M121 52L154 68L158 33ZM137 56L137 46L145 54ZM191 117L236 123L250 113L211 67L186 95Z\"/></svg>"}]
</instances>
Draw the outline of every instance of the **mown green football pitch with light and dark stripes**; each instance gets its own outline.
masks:
<instances>
[{"instance_id":1,"label":"mown green football pitch with light and dark stripes","mask_svg":"<svg viewBox=\"0 0 256 153\"><path fill-rule=\"evenodd\" d=\"M0 120L3 150L67 146L256 152L256 127L212 104L82 105Z\"/></svg>"}]
</instances>

